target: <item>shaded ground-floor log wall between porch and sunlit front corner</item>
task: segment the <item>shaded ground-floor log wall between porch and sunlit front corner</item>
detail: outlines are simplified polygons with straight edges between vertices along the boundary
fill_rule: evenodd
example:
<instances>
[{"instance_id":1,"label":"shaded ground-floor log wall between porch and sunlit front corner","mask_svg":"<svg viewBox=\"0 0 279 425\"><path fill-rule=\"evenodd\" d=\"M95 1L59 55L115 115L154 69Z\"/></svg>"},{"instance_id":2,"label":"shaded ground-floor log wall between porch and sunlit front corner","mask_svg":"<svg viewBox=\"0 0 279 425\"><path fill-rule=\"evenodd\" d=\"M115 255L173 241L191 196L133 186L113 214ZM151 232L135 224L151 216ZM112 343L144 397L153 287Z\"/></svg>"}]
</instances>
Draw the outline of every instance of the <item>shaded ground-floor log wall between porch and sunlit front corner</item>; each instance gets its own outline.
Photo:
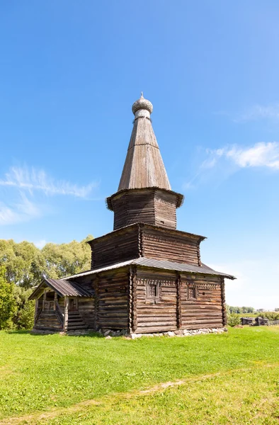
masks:
<instances>
[{"instance_id":1,"label":"shaded ground-floor log wall between porch and sunlit front corner","mask_svg":"<svg viewBox=\"0 0 279 425\"><path fill-rule=\"evenodd\" d=\"M95 276L96 329L127 329L129 283L128 268Z\"/></svg>"}]
</instances>

